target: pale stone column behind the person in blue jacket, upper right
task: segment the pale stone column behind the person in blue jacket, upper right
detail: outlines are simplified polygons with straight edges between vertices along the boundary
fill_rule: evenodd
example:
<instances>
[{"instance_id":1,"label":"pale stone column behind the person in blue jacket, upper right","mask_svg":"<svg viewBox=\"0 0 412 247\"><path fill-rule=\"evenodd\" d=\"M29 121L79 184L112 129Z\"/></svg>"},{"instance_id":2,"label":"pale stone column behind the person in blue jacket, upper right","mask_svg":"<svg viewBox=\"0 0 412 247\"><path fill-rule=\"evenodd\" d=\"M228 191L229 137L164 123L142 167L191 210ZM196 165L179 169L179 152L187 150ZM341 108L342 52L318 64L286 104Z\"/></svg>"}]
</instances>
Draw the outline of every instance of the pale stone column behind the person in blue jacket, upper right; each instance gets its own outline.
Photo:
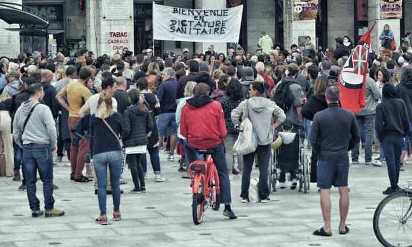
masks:
<instances>
[{"instance_id":1,"label":"pale stone column behind the person in blue jacket, upper right","mask_svg":"<svg viewBox=\"0 0 412 247\"><path fill-rule=\"evenodd\" d=\"M372 31L371 42L372 50L377 54L379 53L379 47L381 47L381 41L379 35L384 30L385 24L388 24L395 37L396 46L400 46L400 20L399 19L380 19L379 13L380 5L379 0L368 0L368 26L376 21L375 28ZM405 23L408 25L408 23Z\"/></svg>"}]
</instances>

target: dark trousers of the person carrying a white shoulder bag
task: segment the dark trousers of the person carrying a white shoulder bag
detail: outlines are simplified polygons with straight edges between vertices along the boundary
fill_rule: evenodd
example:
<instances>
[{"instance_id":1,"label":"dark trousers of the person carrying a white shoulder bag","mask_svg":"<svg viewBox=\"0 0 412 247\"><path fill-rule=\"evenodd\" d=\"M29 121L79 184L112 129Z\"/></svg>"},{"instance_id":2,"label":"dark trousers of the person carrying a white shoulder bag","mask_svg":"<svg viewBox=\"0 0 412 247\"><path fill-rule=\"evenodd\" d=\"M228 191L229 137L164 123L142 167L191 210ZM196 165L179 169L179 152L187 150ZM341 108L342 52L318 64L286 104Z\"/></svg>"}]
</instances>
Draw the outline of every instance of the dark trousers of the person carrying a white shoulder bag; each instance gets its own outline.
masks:
<instances>
[{"instance_id":1,"label":"dark trousers of the person carrying a white shoulder bag","mask_svg":"<svg viewBox=\"0 0 412 247\"><path fill-rule=\"evenodd\" d=\"M258 192L261 199L269 197L267 187L267 169L270 159L270 145L258 145L253 153L243 155L242 192L241 198L249 198L250 172L252 172L253 161L258 156L259 162L259 184Z\"/></svg>"}]
</instances>

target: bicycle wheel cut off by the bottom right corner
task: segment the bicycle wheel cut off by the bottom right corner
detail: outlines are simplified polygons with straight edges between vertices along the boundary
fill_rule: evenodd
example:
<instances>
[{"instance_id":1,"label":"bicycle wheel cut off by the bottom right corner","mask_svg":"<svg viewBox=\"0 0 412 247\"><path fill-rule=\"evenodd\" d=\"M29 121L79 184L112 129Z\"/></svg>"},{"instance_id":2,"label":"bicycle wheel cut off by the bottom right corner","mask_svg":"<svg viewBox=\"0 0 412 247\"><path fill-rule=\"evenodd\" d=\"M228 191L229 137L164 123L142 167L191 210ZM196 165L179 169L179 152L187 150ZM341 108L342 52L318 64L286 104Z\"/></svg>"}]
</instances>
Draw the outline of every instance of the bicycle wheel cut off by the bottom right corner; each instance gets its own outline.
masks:
<instances>
[{"instance_id":1,"label":"bicycle wheel cut off by the bottom right corner","mask_svg":"<svg viewBox=\"0 0 412 247\"><path fill-rule=\"evenodd\" d=\"M386 247L412 246L412 194L394 193L384 198L373 216L373 231Z\"/></svg>"}]
</instances>

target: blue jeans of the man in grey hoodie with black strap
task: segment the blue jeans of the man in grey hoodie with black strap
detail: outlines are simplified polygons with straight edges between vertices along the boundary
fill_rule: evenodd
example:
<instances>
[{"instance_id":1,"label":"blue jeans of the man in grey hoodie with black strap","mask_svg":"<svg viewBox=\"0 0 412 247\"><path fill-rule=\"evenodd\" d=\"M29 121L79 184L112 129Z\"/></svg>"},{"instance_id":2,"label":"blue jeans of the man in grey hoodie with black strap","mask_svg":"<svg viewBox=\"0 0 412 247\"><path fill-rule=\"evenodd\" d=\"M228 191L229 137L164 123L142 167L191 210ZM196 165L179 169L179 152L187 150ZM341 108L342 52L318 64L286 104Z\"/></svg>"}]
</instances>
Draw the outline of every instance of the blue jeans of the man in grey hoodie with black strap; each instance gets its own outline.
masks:
<instances>
[{"instance_id":1,"label":"blue jeans of the man in grey hoodie with black strap","mask_svg":"<svg viewBox=\"0 0 412 247\"><path fill-rule=\"evenodd\" d=\"M40 210L40 201L36 196L37 170L43 181L44 209L52 210L54 207L52 147L37 144L23 145L23 171L31 211Z\"/></svg>"}]
</instances>

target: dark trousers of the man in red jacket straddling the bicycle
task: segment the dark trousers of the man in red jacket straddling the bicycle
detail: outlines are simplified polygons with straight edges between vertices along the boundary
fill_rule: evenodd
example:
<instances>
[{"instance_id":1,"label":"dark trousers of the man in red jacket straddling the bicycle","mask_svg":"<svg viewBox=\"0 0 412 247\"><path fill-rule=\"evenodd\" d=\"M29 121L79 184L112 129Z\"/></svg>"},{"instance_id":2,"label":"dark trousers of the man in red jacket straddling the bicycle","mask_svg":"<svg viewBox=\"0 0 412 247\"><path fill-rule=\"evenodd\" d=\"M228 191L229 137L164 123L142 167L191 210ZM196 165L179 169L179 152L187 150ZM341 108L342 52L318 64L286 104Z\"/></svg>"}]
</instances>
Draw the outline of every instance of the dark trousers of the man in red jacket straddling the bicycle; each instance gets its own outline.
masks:
<instances>
[{"instance_id":1,"label":"dark trousers of the man in red jacket straddling the bicycle","mask_svg":"<svg viewBox=\"0 0 412 247\"><path fill-rule=\"evenodd\" d=\"M197 150L186 142L186 156L189 159L189 163L197 160ZM232 196L230 195L230 181L229 175L227 174L227 164L226 164L226 156L225 156L225 146L223 144L219 144L216 147L211 148L215 151L212 154L213 162L218 169L219 175L219 182L220 182L220 203L231 203Z\"/></svg>"}]
</instances>

